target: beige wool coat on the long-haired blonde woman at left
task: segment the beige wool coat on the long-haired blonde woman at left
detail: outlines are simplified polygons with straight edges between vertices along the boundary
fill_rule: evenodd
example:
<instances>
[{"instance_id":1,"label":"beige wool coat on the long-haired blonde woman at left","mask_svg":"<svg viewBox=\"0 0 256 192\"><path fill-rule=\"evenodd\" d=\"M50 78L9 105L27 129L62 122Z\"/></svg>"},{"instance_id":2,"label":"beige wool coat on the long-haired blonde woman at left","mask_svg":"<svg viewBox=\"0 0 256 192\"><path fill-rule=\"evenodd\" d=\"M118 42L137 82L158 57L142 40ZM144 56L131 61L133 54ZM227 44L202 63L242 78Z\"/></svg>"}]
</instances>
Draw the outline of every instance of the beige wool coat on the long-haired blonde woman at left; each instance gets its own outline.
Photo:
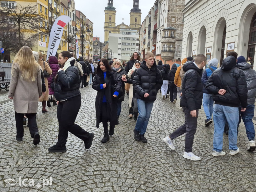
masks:
<instances>
[{"instance_id":1,"label":"beige wool coat on the long-haired blonde woman at left","mask_svg":"<svg viewBox=\"0 0 256 192\"><path fill-rule=\"evenodd\" d=\"M14 111L17 113L37 113L38 98L42 96L42 79L40 67L36 71L33 82L20 79L22 71L17 63L13 63L8 97L13 97Z\"/></svg>"}]
</instances>

